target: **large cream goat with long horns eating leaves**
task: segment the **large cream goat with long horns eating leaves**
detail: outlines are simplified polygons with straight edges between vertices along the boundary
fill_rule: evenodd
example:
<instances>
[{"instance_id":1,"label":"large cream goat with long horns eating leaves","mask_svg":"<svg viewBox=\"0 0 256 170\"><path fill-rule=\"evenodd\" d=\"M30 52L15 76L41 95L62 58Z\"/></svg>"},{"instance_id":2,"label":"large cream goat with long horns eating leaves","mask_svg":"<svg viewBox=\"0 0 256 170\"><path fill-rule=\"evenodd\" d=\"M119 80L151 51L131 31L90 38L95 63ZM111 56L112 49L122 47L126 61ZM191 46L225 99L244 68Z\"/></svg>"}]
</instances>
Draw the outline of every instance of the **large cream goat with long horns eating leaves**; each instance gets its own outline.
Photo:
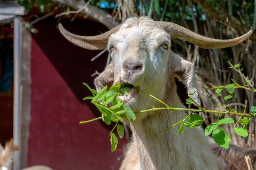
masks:
<instances>
[{"instance_id":1,"label":"large cream goat with long horns eating leaves","mask_svg":"<svg viewBox=\"0 0 256 170\"><path fill-rule=\"evenodd\" d=\"M183 104L177 95L175 77L183 81L188 94L195 92L192 98L196 102L199 103L199 100L193 64L171 51L171 39L189 41L201 48L225 48L243 42L252 34L249 31L235 39L216 40L174 23L156 22L149 17L128 18L120 26L91 37L72 34L61 24L59 30L67 40L82 48L108 48L112 61L94 80L97 91L105 85L129 83L178 108L182 108ZM122 97L122 102L134 112L163 107L163 104L136 88ZM161 133L186 115L184 111L169 110L137 114L137 119L129 124L139 161L121 169L221 170L220 162L210 150L201 127L185 128L181 135L180 126ZM128 153L134 154L134 150Z\"/></svg>"}]
</instances>

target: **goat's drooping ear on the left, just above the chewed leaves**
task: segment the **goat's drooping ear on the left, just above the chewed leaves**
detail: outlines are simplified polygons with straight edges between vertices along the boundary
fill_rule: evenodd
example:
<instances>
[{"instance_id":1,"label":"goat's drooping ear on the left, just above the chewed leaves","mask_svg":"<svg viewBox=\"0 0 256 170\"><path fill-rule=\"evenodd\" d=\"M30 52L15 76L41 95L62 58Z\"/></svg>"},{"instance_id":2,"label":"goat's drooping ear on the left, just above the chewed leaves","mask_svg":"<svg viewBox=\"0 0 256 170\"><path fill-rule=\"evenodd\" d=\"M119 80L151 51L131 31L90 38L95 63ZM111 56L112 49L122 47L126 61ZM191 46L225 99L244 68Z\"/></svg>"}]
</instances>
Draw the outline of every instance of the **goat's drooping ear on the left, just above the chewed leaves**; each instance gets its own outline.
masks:
<instances>
[{"instance_id":1,"label":"goat's drooping ear on the left, just above the chewed leaves","mask_svg":"<svg viewBox=\"0 0 256 170\"><path fill-rule=\"evenodd\" d=\"M114 82L114 67L113 62L106 66L105 70L94 79L94 85L96 90L99 92L105 85L108 85L110 88Z\"/></svg>"}]
</instances>

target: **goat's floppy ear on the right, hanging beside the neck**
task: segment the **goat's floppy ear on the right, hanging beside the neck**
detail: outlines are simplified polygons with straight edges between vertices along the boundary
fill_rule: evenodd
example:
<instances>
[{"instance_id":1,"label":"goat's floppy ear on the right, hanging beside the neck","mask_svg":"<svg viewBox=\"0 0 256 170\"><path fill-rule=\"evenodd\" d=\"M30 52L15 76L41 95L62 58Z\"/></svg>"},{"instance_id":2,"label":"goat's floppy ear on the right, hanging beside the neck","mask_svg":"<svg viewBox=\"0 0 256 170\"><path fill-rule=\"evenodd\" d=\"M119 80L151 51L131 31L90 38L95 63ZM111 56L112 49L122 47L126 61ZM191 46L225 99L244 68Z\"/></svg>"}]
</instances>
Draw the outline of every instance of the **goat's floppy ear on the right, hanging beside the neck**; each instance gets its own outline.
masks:
<instances>
[{"instance_id":1,"label":"goat's floppy ear on the right, hanging beside the neck","mask_svg":"<svg viewBox=\"0 0 256 170\"><path fill-rule=\"evenodd\" d=\"M180 79L186 86L188 95L192 94L190 95L192 99L199 104L194 65L175 53L171 54L169 65L175 77Z\"/></svg>"}]
</instances>

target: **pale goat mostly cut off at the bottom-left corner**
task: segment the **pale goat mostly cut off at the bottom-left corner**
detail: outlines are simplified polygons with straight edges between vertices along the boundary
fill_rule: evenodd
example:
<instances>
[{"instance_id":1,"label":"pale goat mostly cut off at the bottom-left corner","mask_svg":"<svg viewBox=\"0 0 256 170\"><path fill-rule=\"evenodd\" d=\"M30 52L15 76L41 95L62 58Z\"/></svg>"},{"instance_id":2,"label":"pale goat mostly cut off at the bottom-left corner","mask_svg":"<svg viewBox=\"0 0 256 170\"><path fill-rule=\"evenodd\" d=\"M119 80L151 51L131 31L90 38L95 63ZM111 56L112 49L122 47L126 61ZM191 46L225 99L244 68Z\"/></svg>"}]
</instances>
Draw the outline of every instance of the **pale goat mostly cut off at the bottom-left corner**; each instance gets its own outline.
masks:
<instances>
[{"instance_id":1,"label":"pale goat mostly cut off at the bottom-left corner","mask_svg":"<svg viewBox=\"0 0 256 170\"><path fill-rule=\"evenodd\" d=\"M5 147L0 144L0 170L12 170L12 164L14 160L14 152L19 151L20 147L13 144L13 139L6 142ZM22 170L52 170L49 167L36 165L27 167Z\"/></svg>"}]
</instances>

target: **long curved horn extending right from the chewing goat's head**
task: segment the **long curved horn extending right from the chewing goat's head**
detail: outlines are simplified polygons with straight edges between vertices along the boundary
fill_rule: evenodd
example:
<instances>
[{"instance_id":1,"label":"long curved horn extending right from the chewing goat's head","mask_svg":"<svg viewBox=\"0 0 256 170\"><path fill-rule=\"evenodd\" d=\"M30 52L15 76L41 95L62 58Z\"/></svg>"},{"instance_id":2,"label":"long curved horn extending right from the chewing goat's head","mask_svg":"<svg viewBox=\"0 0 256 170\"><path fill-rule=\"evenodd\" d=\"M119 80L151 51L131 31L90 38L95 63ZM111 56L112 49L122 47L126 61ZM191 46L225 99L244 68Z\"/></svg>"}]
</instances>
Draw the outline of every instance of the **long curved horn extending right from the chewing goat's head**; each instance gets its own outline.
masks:
<instances>
[{"instance_id":1,"label":"long curved horn extending right from the chewing goat's head","mask_svg":"<svg viewBox=\"0 0 256 170\"><path fill-rule=\"evenodd\" d=\"M180 40L188 41L198 45L201 48L231 47L243 42L248 37L250 37L250 35L253 33L253 31L250 30L246 34L231 40L218 40L218 39L201 36L175 23L169 23L169 22L158 22L158 23L170 34L171 38L178 38Z\"/></svg>"}]
</instances>

